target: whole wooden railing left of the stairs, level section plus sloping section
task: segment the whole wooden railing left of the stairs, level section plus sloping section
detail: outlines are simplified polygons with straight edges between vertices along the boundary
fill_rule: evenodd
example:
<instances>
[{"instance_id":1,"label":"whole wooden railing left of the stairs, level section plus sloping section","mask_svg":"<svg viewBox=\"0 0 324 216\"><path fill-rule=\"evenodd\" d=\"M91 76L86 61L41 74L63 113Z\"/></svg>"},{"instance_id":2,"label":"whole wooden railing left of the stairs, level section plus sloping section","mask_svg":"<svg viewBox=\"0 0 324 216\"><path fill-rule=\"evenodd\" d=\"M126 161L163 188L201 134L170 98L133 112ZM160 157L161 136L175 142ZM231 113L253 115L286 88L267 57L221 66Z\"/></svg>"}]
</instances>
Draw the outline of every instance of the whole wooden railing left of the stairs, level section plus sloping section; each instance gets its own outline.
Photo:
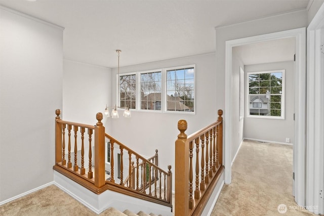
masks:
<instances>
[{"instance_id":1,"label":"whole wooden railing left of the stairs, level section plus sloping section","mask_svg":"<svg viewBox=\"0 0 324 216\"><path fill-rule=\"evenodd\" d=\"M54 170L96 194L111 190L172 208L171 165L168 171L157 166L157 150L153 157L145 159L105 134L102 113L97 113L96 125L64 121L60 118L61 110L55 113ZM105 170L105 139L110 141L109 178ZM114 159L114 150L120 154L119 179L115 177L117 158ZM124 166L128 166L128 170L124 170ZM124 185L124 172L131 177L127 185Z\"/></svg>"}]
</instances>

